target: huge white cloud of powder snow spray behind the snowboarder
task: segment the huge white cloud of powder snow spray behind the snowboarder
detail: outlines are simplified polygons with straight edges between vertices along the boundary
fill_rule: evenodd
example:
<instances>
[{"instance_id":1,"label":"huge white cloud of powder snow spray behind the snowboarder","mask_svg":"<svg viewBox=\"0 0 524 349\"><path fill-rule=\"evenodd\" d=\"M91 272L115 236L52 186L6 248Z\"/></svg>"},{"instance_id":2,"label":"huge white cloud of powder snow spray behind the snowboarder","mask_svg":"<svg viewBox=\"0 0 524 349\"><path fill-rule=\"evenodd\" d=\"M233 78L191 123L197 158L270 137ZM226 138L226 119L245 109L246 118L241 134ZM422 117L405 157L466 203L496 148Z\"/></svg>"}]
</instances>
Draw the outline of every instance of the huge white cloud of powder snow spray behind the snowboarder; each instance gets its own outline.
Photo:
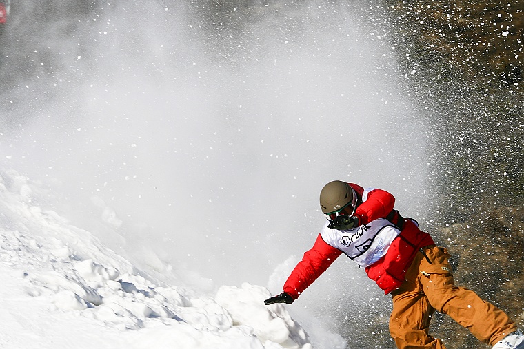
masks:
<instances>
[{"instance_id":1,"label":"huge white cloud of powder snow spray behind the snowboarder","mask_svg":"<svg viewBox=\"0 0 524 349\"><path fill-rule=\"evenodd\" d=\"M19 23L32 37L3 46L2 166L133 262L219 285L264 285L309 248L330 180L389 189L415 214L423 142L387 33L347 3L202 4Z\"/></svg>"}]
</instances>

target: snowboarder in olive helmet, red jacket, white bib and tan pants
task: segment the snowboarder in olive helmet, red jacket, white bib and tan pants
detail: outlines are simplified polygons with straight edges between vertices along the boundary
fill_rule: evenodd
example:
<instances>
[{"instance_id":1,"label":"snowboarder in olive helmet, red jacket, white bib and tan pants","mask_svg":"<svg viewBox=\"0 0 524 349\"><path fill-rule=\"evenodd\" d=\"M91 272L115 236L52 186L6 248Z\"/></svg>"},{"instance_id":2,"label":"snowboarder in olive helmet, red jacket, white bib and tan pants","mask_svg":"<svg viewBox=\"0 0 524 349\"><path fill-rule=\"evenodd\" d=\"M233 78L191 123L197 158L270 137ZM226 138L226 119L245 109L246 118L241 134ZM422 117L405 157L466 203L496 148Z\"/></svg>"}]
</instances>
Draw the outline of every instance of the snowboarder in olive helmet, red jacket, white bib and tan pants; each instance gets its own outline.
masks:
<instances>
[{"instance_id":1,"label":"snowboarder in olive helmet, red jacket, white bib and tan pants","mask_svg":"<svg viewBox=\"0 0 524 349\"><path fill-rule=\"evenodd\" d=\"M524 335L514 321L472 290L455 286L446 249L436 246L415 220L403 218L394 202L381 189L339 180L326 184L320 204L328 221L283 293L264 304L291 304L345 253L392 295L390 334L397 348L445 349L441 339L429 335L431 315L439 310L492 349L524 349Z\"/></svg>"}]
</instances>

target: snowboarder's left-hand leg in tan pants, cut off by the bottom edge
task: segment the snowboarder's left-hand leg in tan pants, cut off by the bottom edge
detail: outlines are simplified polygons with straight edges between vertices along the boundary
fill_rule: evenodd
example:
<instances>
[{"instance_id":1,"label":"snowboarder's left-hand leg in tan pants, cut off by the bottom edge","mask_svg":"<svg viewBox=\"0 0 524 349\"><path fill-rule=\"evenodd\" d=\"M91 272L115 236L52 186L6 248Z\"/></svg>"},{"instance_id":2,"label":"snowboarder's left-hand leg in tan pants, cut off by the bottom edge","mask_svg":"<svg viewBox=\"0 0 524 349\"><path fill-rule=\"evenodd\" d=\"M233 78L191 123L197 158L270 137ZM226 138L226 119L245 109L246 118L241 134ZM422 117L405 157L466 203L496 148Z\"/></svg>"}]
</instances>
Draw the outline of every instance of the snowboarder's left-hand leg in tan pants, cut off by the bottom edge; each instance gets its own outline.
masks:
<instances>
[{"instance_id":1,"label":"snowboarder's left-hand leg in tan pants, cut off by the bottom edge","mask_svg":"<svg viewBox=\"0 0 524 349\"><path fill-rule=\"evenodd\" d=\"M418 279L419 253L407 270L406 281L392 292L393 310L390 317L390 334L399 349L445 349L440 339L429 335L430 319L434 312L424 295Z\"/></svg>"}]
</instances>

